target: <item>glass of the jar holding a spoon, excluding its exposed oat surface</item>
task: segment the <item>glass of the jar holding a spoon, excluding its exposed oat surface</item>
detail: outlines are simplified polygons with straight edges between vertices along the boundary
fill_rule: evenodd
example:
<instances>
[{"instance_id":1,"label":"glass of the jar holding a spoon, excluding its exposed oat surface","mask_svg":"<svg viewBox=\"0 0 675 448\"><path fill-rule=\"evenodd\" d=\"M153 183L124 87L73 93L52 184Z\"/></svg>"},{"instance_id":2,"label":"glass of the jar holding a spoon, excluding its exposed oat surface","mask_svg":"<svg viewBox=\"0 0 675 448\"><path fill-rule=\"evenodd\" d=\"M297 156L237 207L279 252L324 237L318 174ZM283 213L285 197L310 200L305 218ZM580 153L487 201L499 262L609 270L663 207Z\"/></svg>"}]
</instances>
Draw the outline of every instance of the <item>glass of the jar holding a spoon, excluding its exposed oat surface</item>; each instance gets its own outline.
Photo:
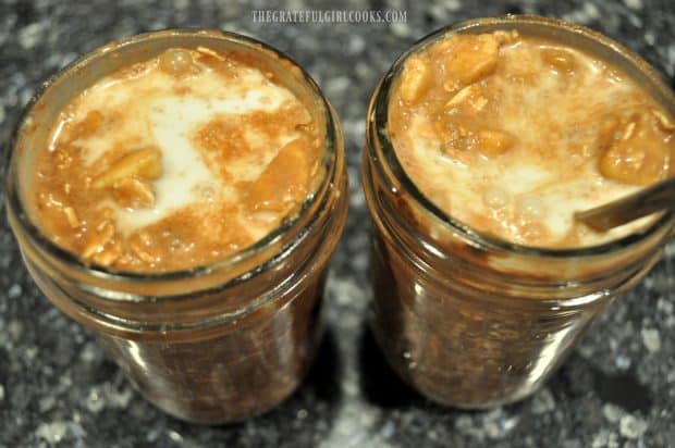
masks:
<instances>
[{"instance_id":1,"label":"glass of the jar holding a spoon, excluding its exposed oat surface","mask_svg":"<svg viewBox=\"0 0 675 448\"><path fill-rule=\"evenodd\" d=\"M673 92L630 51L561 21L506 16L433 33L393 64L367 116L363 181L373 219L370 326L407 383L449 406L480 409L541 386L592 319L661 256L673 213L594 247L552 250L480 234L437 208L406 175L388 132L392 86L407 57L454 33L517 29L611 61L675 113Z\"/></svg>"}]
</instances>

